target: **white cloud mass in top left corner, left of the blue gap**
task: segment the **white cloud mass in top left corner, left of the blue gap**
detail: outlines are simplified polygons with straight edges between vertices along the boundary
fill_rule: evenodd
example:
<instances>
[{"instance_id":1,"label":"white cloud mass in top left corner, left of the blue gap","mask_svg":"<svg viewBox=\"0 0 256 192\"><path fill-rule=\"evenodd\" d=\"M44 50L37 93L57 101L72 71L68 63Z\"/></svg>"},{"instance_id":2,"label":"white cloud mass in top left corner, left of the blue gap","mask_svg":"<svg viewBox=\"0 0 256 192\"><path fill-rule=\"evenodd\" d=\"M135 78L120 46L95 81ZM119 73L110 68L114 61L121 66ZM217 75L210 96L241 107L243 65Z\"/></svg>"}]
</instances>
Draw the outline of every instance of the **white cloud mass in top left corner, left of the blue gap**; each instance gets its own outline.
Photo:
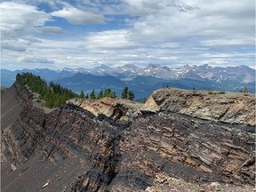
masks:
<instances>
[{"instance_id":1,"label":"white cloud mass in top left corner, left of the blue gap","mask_svg":"<svg viewBox=\"0 0 256 192\"><path fill-rule=\"evenodd\" d=\"M28 47L38 42L34 36L36 28L44 26L51 16L37 10L35 6L3 2L1 9L1 51L26 52ZM13 57L11 56L13 60Z\"/></svg>"}]
</instances>

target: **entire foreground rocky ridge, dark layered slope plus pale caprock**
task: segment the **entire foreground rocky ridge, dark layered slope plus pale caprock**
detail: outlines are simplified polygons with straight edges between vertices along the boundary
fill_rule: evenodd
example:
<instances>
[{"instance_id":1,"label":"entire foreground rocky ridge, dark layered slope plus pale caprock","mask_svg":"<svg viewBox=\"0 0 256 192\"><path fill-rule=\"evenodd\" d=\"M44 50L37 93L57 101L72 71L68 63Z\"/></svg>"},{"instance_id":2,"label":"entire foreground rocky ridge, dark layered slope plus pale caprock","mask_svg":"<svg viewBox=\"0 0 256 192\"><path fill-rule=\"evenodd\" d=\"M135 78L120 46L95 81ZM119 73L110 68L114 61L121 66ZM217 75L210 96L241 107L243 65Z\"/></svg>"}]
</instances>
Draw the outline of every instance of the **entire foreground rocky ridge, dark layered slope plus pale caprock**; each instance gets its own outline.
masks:
<instances>
[{"instance_id":1,"label":"entire foreground rocky ridge, dark layered slope plus pale caprock","mask_svg":"<svg viewBox=\"0 0 256 192\"><path fill-rule=\"evenodd\" d=\"M1 191L252 191L255 185L255 130L246 125L253 125L252 96L230 95L229 102L229 93L164 89L145 105L69 100L44 113L26 87L14 88L21 111L1 136ZM224 115L216 115L222 107Z\"/></svg>"}]
</instances>

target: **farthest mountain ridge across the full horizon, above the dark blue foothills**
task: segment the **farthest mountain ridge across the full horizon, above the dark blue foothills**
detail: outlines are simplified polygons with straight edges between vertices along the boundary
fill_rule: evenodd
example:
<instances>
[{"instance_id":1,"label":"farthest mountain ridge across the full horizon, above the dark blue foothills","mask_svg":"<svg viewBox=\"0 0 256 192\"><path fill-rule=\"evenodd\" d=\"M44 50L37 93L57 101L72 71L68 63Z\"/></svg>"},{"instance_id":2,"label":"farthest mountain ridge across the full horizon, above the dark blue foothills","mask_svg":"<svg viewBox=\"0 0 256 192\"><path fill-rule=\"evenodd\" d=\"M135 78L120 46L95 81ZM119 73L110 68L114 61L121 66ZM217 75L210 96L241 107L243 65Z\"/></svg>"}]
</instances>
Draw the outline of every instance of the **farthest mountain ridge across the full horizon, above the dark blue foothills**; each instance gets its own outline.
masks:
<instances>
[{"instance_id":1,"label":"farthest mountain ridge across the full horizon, above the dark blue foothills","mask_svg":"<svg viewBox=\"0 0 256 192\"><path fill-rule=\"evenodd\" d=\"M92 74L92 75L98 75L98 76L120 76L122 73L127 73L130 72L134 76L155 76L163 79L179 79L184 76L186 76L189 73L200 76L201 78L207 78L209 80L216 80L216 81L221 81L221 80L227 80L227 79L232 79L231 77L237 77L240 73L243 74L244 76L250 76L247 77L248 79L246 82L243 83L249 83L255 81L253 78L255 75L255 69L249 68L248 66L245 65L240 65L236 67L211 67L208 64L204 64L201 66L189 66L184 65L179 68L169 68L167 66L162 66L159 64L148 64L147 67L145 68L140 68L135 66L134 64L125 64L124 66L116 67L116 68L111 68L108 67L107 65L100 65L96 66L94 68L60 68L58 70L51 70L48 68L36 68L36 69L22 69L22 70L16 70L16 71L10 71L8 69L1 69L3 72L16 72L20 73L23 71L28 71L28 72L35 72L35 73L42 73L45 70L51 71L52 73L57 73L60 74L61 72L67 72L71 74L76 74L76 73L85 73L85 74ZM161 74L161 73L166 73L166 74ZM212 74L211 74L212 73ZM238 73L238 74L237 74ZM168 75L168 76L167 76ZM212 76L211 76L212 75ZM226 79L223 77L226 75ZM232 75L232 76L230 76ZM186 76L190 78L194 78L193 76ZM196 78L196 77L195 77ZM243 79L244 80L244 79ZM245 81L245 80L244 80Z\"/></svg>"}]
</instances>

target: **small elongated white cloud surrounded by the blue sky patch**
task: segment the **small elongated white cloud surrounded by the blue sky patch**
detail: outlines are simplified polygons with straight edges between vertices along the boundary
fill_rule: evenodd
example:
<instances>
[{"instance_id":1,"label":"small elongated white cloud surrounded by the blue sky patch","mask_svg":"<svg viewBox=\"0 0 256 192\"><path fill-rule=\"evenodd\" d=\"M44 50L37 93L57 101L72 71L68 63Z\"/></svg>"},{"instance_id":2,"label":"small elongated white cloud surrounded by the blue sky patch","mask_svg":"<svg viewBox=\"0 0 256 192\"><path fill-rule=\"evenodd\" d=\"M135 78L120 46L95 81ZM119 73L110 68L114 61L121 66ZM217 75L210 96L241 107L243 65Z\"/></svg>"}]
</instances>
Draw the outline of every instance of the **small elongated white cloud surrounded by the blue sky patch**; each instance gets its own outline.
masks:
<instances>
[{"instance_id":1,"label":"small elongated white cloud surrounded by the blue sky patch","mask_svg":"<svg viewBox=\"0 0 256 192\"><path fill-rule=\"evenodd\" d=\"M64 8L60 11L52 12L52 16L64 18L74 25L105 23L103 15L95 14L93 12L84 12L75 7Z\"/></svg>"}]
</instances>

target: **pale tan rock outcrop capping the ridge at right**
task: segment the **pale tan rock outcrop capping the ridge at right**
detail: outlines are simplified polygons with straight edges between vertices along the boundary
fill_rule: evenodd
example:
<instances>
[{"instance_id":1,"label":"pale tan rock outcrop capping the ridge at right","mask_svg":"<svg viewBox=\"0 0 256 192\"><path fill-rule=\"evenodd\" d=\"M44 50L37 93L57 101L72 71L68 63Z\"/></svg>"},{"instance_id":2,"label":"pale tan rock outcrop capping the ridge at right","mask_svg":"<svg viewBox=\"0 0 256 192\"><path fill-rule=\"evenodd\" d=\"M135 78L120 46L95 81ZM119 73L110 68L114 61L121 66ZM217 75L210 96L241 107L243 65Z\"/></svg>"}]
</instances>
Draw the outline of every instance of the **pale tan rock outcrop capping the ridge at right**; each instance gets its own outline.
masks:
<instances>
[{"instance_id":1,"label":"pale tan rock outcrop capping the ridge at right","mask_svg":"<svg viewBox=\"0 0 256 192\"><path fill-rule=\"evenodd\" d=\"M255 95L240 92L192 92L162 89L154 92L144 108L170 111L229 124L255 126Z\"/></svg>"}]
</instances>

